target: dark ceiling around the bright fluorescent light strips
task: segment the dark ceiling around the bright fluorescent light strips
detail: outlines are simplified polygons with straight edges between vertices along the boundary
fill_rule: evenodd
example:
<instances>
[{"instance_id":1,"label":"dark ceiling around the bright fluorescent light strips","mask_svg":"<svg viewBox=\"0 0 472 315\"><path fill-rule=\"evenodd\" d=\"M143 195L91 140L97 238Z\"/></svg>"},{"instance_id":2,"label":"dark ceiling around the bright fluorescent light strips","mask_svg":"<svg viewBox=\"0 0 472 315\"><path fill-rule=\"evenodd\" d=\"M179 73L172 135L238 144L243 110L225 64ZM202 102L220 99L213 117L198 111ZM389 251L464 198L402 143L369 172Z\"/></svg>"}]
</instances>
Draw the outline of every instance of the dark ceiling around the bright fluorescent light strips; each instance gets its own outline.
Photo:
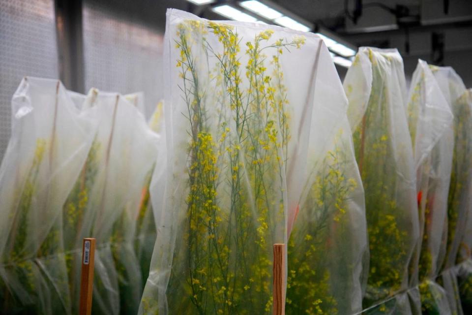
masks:
<instances>
[{"instance_id":1,"label":"dark ceiling around the bright fluorescent light strips","mask_svg":"<svg viewBox=\"0 0 472 315\"><path fill-rule=\"evenodd\" d=\"M212 6L229 3L242 9L237 3L240 0L214 0L200 6L186 0L139 0L128 1L125 7L113 0L89 1L121 12L122 19L135 17L134 20L153 25L161 30L159 32L165 28L165 9L168 7L216 20L224 17L212 12ZM472 86L472 58L469 57L472 56L472 0L260 1L278 5L295 17L334 32L356 47L397 48L404 58L407 76L413 73L417 59L421 58L429 63L455 67ZM109 5L109 2L115 4ZM354 23L352 16L356 3L362 5L362 10ZM338 68L338 71L343 77L346 69Z\"/></svg>"}]
</instances>

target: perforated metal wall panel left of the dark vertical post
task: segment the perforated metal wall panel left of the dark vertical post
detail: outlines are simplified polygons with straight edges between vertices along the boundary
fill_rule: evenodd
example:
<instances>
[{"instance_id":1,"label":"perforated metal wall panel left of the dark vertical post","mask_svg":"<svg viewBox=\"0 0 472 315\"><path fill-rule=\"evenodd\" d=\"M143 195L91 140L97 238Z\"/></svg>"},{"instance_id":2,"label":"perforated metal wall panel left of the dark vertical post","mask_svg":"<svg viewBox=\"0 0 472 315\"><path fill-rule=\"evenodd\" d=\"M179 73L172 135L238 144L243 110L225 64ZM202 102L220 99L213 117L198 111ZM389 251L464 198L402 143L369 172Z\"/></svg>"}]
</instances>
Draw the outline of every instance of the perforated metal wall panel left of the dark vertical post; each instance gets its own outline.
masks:
<instances>
[{"instance_id":1,"label":"perforated metal wall panel left of the dark vertical post","mask_svg":"<svg viewBox=\"0 0 472 315\"><path fill-rule=\"evenodd\" d=\"M0 0L0 160L10 138L11 97L27 75L58 78L54 0Z\"/></svg>"}]
</instances>

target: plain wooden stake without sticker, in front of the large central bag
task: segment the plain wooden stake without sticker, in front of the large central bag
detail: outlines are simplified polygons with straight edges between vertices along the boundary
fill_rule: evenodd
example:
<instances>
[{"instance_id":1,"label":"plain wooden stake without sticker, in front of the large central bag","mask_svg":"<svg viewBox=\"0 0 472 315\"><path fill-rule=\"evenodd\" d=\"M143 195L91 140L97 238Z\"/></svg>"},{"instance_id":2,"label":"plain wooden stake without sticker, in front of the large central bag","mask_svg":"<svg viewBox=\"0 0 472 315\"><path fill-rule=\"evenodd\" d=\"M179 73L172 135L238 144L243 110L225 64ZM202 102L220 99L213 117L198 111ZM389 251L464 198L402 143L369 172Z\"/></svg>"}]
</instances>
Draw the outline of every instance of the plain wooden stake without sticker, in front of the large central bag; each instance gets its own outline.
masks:
<instances>
[{"instance_id":1,"label":"plain wooden stake without sticker, in front of the large central bag","mask_svg":"<svg viewBox=\"0 0 472 315\"><path fill-rule=\"evenodd\" d=\"M285 244L274 244L273 315L285 315Z\"/></svg>"}]
</instances>

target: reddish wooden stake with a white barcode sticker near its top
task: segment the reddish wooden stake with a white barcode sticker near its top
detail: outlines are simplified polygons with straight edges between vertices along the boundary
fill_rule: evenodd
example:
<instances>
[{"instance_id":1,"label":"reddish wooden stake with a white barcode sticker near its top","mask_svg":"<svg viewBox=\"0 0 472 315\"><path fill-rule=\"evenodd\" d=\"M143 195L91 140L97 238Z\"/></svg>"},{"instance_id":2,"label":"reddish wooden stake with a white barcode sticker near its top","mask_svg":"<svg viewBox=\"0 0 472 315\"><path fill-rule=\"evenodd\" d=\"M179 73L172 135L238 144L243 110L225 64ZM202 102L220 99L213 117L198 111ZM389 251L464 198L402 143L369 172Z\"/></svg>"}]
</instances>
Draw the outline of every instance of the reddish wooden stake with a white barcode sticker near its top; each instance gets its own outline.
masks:
<instances>
[{"instance_id":1,"label":"reddish wooden stake with a white barcode sticker near its top","mask_svg":"<svg viewBox=\"0 0 472 315\"><path fill-rule=\"evenodd\" d=\"M80 278L80 315L92 312L93 267L95 262L95 239L85 238L82 244L82 271Z\"/></svg>"}]
</instances>

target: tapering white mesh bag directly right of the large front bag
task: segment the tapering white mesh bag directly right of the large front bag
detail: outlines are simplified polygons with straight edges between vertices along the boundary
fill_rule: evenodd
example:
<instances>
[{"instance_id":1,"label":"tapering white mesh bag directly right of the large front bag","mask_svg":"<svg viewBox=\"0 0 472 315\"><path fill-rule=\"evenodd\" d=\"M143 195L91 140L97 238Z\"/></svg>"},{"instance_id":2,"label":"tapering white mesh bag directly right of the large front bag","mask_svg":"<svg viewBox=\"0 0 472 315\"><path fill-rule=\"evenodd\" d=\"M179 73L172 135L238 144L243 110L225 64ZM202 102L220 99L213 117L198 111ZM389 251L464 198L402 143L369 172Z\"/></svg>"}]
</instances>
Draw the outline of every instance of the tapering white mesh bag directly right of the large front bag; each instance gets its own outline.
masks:
<instances>
[{"instance_id":1,"label":"tapering white mesh bag directly right of the large front bag","mask_svg":"<svg viewBox=\"0 0 472 315\"><path fill-rule=\"evenodd\" d=\"M354 314L362 310L368 262L364 191L348 102L326 49L317 74L306 176L288 243L286 313Z\"/></svg>"}]
</instances>

